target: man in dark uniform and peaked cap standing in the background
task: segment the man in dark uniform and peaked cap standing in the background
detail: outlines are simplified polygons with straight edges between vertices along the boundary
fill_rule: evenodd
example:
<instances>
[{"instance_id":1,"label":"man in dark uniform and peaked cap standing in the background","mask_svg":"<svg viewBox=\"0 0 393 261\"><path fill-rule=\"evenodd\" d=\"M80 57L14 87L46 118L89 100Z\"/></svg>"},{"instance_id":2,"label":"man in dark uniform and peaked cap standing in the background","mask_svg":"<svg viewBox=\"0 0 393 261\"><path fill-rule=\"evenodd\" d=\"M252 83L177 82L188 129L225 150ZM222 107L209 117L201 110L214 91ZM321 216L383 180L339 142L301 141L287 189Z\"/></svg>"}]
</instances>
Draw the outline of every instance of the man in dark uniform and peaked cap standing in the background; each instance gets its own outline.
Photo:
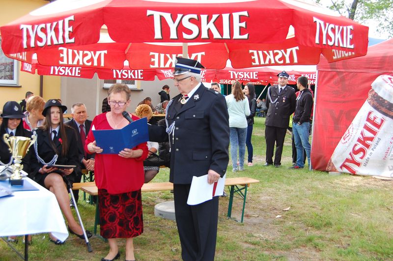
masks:
<instances>
[{"instance_id":1,"label":"man in dark uniform and peaked cap standing in the background","mask_svg":"<svg viewBox=\"0 0 393 261\"><path fill-rule=\"evenodd\" d=\"M266 107L268 108L265 121L266 163L265 166L281 166L282 147L286 129L289 126L289 116L296 107L295 89L287 86L289 75L282 71L277 75L279 84L268 88ZM276 153L273 162L274 145Z\"/></svg>"}]
</instances>

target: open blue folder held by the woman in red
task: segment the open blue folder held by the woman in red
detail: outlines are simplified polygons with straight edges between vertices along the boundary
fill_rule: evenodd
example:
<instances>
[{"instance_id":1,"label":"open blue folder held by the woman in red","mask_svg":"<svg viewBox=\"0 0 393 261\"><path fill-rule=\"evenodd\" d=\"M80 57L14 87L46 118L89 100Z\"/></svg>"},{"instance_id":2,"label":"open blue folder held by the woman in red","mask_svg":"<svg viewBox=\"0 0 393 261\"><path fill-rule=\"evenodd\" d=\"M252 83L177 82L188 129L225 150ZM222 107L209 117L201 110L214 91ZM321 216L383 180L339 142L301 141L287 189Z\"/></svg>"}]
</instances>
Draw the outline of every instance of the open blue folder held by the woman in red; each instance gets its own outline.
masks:
<instances>
[{"instance_id":1,"label":"open blue folder held by the woman in red","mask_svg":"<svg viewBox=\"0 0 393 261\"><path fill-rule=\"evenodd\" d=\"M93 130L97 146L104 151L101 154L119 154L124 148L133 148L149 140L147 119L133 121L118 130Z\"/></svg>"}]
</instances>

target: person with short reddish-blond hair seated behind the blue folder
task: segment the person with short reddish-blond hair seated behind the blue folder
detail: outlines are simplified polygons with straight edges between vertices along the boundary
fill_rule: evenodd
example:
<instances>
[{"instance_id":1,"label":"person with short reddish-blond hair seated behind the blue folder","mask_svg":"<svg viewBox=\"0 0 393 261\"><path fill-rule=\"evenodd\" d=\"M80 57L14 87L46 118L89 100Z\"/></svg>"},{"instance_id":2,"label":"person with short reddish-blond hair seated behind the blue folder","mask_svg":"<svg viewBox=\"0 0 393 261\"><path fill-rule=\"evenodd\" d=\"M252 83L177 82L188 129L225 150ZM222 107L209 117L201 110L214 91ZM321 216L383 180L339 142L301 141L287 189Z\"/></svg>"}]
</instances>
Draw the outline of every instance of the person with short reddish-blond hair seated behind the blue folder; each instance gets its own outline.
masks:
<instances>
[{"instance_id":1,"label":"person with short reddish-blond hair seated behind the blue folder","mask_svg":"<svg viewBox=\"0 0 393 261\"><path fill-rule=\"evenodd\" d=\"M135 109L135 114L140 118L147 118L147 121L151 119L153 116L153 111L150 106L147 104L141 104ZM159 144L157 142L147 142L147 148L149 149L150 157L153 153L157 153ZM147 166L146 163L143 164L144 170L144 183L148 183L151 181L157 173L160 171L160 167L158 166Z\"/></svg>"}]
</instances>

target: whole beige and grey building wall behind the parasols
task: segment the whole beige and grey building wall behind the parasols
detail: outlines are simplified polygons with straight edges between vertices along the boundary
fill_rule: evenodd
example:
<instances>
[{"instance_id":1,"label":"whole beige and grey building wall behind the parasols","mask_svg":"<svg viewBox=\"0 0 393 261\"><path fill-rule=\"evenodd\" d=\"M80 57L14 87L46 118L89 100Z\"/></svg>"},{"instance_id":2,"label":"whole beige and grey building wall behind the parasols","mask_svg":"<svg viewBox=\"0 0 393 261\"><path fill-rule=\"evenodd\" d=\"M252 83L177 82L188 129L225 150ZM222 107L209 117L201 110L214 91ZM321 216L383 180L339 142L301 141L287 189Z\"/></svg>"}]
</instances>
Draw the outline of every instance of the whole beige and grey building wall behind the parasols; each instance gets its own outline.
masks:
<instances>
[{"instance_id":1,"label":"whole beige and grey building wall behind the parasols","mask_svg":"<svg viewBox=\"0 0 393 261\"><path fill-rule=\"evenodd\" d=\"M0 0L0 25L12 22L47 3L47 0ZM24 99L27 91L39 95L40 76L21 72L20 66L21 63L18 62L18 86L0 86L0 109L6 101ZM98 79L97 76L93 79L43 76L42 81L43 98L61 98L63 104L68 107L67 113L71 113L72 104L77 102L86 105L89 119L101 113L102 100L107 96L108 89L104 89L104 80ZM145 97L151 97L153 106L160 103L158 92L166 84L171 88L170 97L179 93L177 88L173 87L172 80L137 81L138 90L132 90L131 104L127 111L135 112L138 103Z\"/></svg>"}]
</instances>

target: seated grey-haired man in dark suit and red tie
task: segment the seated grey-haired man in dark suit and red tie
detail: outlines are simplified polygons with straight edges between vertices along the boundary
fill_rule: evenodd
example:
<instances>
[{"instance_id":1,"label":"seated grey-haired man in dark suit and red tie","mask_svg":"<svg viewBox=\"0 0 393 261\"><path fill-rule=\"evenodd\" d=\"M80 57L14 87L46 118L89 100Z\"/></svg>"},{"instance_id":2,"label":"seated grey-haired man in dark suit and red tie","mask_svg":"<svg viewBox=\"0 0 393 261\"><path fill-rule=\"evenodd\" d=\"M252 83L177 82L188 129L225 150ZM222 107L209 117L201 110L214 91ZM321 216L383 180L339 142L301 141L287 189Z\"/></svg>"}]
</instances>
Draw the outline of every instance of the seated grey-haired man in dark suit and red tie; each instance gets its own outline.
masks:
<instances>
[{"instance_id":1,"label":"seated grey-haired man in dark suit and red tie","mask_svg":"<svg viewBox=\"0 0 393 261\"><path fill-rule=\"evenodd\" d=\"M71 114L73 119L65 122L66 125L72 127L77 133L78 143L78 156L79 156L79 167L80 169L86 169L88 171L94 171L94 156L95 154L88 154L84 151L84 141L90 131L91 120L87 119L86 106L83 103L76 103L72 105ZM76 173L74 182L81 182L82 173ZM79 190L74 190L75 201L78 202ZM72 205L72 200L70 201Z\"/></svg>"}]
</instances>

